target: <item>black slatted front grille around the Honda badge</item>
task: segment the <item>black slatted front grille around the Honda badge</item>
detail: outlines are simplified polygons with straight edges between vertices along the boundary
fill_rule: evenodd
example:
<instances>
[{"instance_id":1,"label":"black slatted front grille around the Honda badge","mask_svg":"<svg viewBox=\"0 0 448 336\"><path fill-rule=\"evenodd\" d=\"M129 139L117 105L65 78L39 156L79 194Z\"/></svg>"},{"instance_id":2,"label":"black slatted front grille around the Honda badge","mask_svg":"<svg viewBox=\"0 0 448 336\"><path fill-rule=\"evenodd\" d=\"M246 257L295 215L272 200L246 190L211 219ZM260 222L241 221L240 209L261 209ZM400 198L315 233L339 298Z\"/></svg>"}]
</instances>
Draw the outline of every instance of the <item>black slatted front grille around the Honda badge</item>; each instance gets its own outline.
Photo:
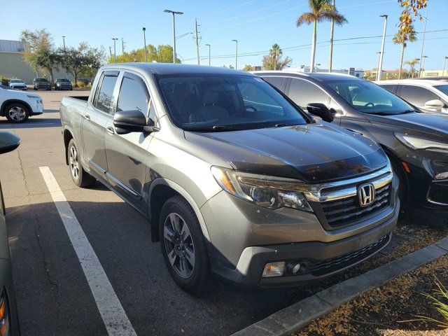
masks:
<instances>
[{"instance_id":1,"label":"black slatted front grille around the Honda badge","mask_svg":"<svg viewBox=\"0 0 448 336\"><path fill-rule=\"evenodd\" d=\"M390 203L391 187L392 183L388 183L375 190L375 200L367 207L360 206L358 195L342 200L322 202L323 214L325 214L328 225L330 228L339 228L381 211Z\"/></svg>"}]
</instances>

